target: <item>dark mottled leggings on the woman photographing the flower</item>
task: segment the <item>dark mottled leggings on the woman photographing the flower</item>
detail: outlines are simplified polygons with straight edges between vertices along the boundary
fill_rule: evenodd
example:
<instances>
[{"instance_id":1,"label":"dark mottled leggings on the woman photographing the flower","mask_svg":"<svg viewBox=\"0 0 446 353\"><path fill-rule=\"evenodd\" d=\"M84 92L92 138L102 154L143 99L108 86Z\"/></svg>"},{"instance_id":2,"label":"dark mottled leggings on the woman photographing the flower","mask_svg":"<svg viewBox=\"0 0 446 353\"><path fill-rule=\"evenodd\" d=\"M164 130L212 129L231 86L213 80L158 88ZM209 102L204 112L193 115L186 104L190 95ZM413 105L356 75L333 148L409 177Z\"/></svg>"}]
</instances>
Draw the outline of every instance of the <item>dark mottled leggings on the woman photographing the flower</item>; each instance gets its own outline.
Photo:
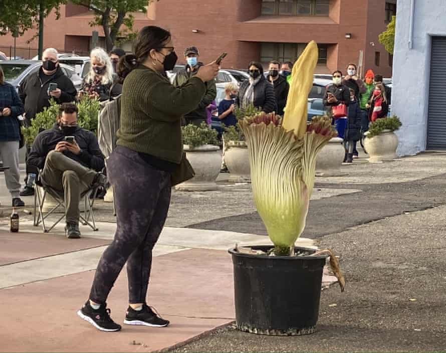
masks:
<instances>
[{"instance_id":1,"label":"dark mottled leggings on the woman photographing the flower","mask_svg":"<svg viewBox=\"0 0 446 353\"><path fill-rule=\"evenodd\" d=\"M170 204L170 173L147 164L139 154L118 146L107 160L113 186L117 229L102 254L90 299L103 304L127 262L129 303L145 303L158 240Z\"/></svg>"}]
</instances>

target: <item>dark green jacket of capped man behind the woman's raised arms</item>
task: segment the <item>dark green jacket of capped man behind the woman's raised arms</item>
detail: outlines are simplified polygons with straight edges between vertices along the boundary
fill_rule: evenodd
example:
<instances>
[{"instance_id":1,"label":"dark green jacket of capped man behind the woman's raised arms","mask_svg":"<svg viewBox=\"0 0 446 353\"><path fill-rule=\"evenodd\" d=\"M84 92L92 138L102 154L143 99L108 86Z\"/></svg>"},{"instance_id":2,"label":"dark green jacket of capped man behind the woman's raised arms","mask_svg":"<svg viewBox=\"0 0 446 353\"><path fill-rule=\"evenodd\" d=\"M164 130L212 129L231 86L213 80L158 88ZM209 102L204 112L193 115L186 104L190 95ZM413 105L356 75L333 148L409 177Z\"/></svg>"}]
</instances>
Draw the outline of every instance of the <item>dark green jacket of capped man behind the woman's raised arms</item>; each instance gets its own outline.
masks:
<instances>
[{"instance_id":1,"label":"dark green jacket of capped man behind the woman's raised arms","mask_svg":"<svg viewBox=\"0 0 446 353\"><path fill-rule=\"evenodd\" d=\"M193 71L190 71L190 66L186 65L184 70L181 70L176 74L175 79L173 80L173 85L175 87L181 87L182 85L184 85L186 82L189 81L191 77L195 76L198 68L202 65L202 63L198 63L195 70ZM201 102L199 102L199 104L197 104L197 106L195 106L194 109L192 109L190 112L184 114L184 117L189 119L203 119L204 121L206 121L206 107L210 103L212 103L216 96L217 88L215 87L215 80L206 82L206 93L201 99Z\"/></svg>"}]
</instances>

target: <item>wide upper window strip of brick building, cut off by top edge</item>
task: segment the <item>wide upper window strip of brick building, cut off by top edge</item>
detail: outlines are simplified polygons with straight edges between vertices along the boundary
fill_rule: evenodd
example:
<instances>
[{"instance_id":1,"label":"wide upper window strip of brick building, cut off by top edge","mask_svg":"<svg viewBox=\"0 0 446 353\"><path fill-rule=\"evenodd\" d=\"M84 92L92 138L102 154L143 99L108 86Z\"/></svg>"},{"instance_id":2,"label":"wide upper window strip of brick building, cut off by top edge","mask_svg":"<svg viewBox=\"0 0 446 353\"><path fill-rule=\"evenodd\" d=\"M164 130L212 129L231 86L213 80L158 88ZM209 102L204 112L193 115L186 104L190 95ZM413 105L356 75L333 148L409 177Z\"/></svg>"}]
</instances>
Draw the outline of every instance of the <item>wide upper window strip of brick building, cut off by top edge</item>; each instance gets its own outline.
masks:
<instances>
[{"instance_id":1,"label":"wide upper window strip of brick building, cut off by top edge","mask_svg":"<svg viewBox=\"0 0 446 353\"><path fill-rule=\"evenodd\" d=\"M262 15L328 16L330 0L262 0Z\"/></svg>"}]
</instances>

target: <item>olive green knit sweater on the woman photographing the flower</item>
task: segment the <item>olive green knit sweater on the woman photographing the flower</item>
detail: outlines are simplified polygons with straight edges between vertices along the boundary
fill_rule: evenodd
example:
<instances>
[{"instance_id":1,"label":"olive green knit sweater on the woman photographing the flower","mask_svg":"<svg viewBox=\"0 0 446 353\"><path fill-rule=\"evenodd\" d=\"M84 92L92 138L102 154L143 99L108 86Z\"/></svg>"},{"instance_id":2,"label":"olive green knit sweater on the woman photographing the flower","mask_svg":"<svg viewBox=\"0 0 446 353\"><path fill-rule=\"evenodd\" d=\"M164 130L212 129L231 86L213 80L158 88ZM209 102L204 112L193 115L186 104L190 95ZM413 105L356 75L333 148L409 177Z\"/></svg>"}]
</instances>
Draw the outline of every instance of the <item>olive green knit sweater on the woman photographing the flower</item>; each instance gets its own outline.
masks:
<instances>
[{"instance_id":1,"label":"olive green knit sweater on the woman photographing the flower","mask_svg":"<svg viewBox=\"0 0 446 353\"><path fill-rule=\"evenodd\" d=\"M139 65L122 86L117 144L179 163L183 150L181 116L194 110L205 92L204 82L197 77L174 87L167 77Z\"/></svg>"}]
</instances>

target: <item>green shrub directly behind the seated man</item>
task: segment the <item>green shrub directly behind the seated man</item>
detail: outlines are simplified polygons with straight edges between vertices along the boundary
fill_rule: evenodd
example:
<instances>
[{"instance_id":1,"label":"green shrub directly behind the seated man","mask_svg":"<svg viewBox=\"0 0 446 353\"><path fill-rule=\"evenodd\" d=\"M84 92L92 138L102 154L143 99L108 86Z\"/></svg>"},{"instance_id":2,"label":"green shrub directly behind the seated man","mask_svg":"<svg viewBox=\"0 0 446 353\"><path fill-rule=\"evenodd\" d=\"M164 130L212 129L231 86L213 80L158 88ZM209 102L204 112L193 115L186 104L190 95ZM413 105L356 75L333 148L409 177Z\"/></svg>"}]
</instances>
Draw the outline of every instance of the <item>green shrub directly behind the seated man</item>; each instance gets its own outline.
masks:
<instances>
[{"instance_id":1,"label":"green shrub directly behind the seated man","mask_svg":"<svg viewBox=\"0 0 446 353\"><path fill-rule=\"evenodd\" d=\"M99 101L97 99L84 97L77 103L77 106L79 109L79 126L96 134L98 130L98 113L100 110ZM51 129L56 123L58 115L59 104L54 99L51 99L50 106L45 107L42 112L36 114L36 117L31 121L31 126L22 127L26 144L32 145L39 131Z\"/></svg>"}]
</instances>

